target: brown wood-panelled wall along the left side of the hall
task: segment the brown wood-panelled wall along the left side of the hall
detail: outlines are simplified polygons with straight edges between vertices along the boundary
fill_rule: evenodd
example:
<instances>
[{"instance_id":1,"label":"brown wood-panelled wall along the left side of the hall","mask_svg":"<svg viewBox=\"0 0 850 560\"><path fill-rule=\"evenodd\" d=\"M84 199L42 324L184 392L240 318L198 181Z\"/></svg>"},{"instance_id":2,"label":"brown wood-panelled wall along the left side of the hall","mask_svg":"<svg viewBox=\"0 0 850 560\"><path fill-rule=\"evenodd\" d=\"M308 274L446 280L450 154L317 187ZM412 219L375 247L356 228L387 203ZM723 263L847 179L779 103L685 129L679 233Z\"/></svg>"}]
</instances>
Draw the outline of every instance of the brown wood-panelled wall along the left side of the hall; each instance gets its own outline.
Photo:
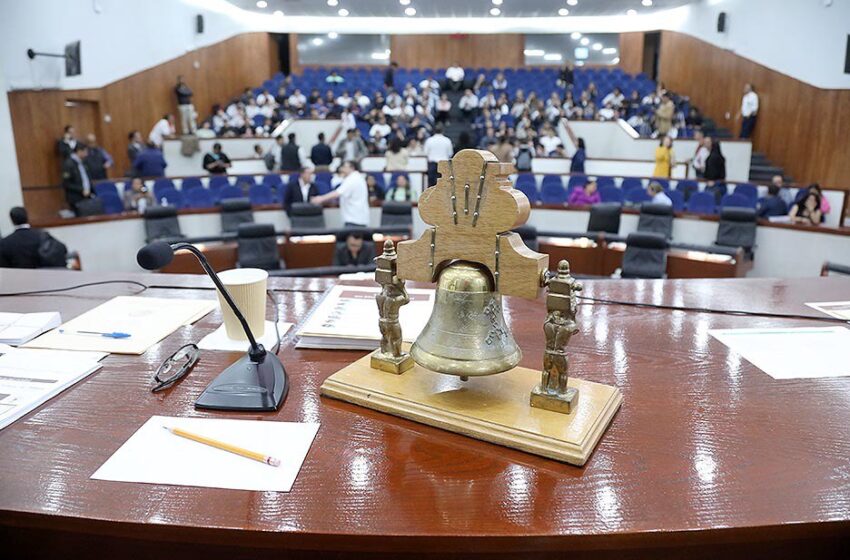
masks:
<instances>
[{"instance_id":1,"label":"brown wood-panelled wall along the left side of the hall","mask_svg":"<svg viewBox=\"0 0 850 560\"><path fill-rule=\"evenodd\" d=\"M128 132L138 129L147 138L151 127L163 114L176 114L173 88L179 74L195 94L193 101L198 113L206 117L213 104L228 101L245 87L260 85L273 73L270 70L278 67L277 47L269 34L246 33L98 89L9 92L21 185L26 189L59 183L56 140L62 135L65 124L66 100L87 99L99 104L99 141L115 158L111 175L122 176L130 166L127 161ZM105 120L107 115L109 122ZM77 134L82 137L88 132L91 131L78 130Z\"/></svg>"}]
</instances>

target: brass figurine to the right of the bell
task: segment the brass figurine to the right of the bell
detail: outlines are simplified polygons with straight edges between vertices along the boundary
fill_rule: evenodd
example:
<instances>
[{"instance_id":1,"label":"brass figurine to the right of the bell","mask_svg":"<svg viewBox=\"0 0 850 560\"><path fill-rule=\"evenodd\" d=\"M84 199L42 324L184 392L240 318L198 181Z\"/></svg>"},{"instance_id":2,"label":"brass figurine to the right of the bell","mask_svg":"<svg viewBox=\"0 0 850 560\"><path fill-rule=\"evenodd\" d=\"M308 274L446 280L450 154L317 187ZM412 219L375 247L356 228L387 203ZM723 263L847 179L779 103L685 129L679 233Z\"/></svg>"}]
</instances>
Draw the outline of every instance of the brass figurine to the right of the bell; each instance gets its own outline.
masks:
<instances>
[{"instance_id":1,"label":"brass figurine to the right of the bell","mask_svg":"<svg viewBox=\"0 0 850 560\"><path fill-rule=\"evenodd\" d=\"M549 281L546 295L546 351L540 385L531 392L531 406L569 414L578 401L578 391L568 387L570 361L567 344L578 333L576 295L582 285L570 276L567 261L558 263L557 275Z\"/></svg>"}]
</instances>

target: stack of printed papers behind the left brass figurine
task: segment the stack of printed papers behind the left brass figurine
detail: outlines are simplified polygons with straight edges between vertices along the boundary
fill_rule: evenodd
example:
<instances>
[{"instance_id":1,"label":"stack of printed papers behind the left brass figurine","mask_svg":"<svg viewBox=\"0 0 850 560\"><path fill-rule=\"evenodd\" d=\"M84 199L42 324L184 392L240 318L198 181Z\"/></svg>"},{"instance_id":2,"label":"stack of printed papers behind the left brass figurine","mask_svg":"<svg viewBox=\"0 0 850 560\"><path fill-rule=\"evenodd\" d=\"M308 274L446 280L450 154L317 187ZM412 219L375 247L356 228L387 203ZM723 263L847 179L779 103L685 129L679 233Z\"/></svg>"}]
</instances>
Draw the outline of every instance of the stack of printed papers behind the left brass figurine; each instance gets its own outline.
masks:
<instances>
[{"instance_id":1,"label":"stack of printed papers behind the left brass figurine","mask_svg":"<svg viewBox=\"0 0 850 560\"><path fill-rule=\"evenodd\" d=\"M380 345L378 286L334 286L298 332L296 348L373 350ZM434 307L434 290L407 290L410 303L401 308L402 337L413 342Z\"/></svg>"}]
</instances>

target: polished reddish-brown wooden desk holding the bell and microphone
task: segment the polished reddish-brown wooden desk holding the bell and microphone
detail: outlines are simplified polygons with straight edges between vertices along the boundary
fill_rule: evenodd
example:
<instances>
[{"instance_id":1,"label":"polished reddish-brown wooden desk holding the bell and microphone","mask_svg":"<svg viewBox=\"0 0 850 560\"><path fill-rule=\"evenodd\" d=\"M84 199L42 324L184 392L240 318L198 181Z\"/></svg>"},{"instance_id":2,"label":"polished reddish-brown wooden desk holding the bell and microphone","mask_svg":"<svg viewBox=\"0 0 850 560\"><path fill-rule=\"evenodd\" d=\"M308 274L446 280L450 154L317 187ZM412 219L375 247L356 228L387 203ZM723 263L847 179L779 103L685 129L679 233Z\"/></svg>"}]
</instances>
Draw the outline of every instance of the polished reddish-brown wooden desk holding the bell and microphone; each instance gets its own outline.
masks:
<instances>
[{"instance_id":1,"label":"polished reddish-brown wooden desk holding the bell and microphone","mask_svg":"<svg viewBox=\"0 0 850 560\"><path fill-rule=\"evenodd\" d=\"M0 270L2 291L119 277L143 295L214 298L203 277ZM305 319L330 281L272 279L282 318ZM191 289L195 288L195 289ZM65 319L132 286L0 299L4 311ZM850 280L585 283L588 296L813 314ZM542 300L506 299L539 367ZM571 373L615 384L622 410L583 468L319 397L363 355L296 350L278 413L196 411L237 354L204 352L195 370L150 393L160 361L197 341L218 312L140 357L103 369L0 431L4 558L846 558L850 541L850 379L775 381L708 335L711 328L804 320L582 305ZM151 415L315 421L318 437L289 493L125 484L89 476ZM367 556L368 553L368 556Z\"/></svg>"}]
</instances>

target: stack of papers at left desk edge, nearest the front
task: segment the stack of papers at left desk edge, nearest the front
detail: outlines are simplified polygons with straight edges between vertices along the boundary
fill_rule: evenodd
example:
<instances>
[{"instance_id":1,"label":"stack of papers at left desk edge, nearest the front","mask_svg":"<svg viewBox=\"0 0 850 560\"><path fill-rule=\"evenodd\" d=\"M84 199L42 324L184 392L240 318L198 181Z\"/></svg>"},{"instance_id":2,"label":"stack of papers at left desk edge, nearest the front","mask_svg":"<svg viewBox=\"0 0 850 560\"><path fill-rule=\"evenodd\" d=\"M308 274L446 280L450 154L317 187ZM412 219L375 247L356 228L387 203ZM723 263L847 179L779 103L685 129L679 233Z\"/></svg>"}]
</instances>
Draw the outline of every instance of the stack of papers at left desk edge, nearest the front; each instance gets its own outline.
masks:
<instances>
[{"instance_id":1,"label":"stack of papers at left desk edge, nearest the front","mask_svg":"<svg viewBox=\"0 0 850 560\"><path fill-rule=\"evenodd\" d=\"M0 428L100 368L103 352L0 348Z\"/></svg>"}]
</instances>

